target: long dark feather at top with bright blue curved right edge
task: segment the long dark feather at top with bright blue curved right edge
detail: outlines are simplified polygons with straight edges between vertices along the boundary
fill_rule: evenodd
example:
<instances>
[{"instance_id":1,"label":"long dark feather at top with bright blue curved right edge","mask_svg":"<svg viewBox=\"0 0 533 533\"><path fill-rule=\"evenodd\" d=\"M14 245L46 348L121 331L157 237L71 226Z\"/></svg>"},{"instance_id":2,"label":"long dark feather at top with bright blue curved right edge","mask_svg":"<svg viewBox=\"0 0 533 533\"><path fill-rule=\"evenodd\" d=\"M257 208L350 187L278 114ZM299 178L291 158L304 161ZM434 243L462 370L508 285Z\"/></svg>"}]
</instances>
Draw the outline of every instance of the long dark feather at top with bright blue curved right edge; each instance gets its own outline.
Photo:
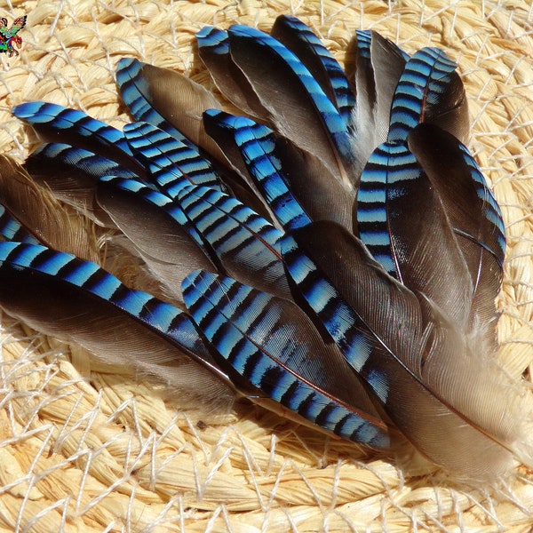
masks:
<instances>
[{"instance_id":1,"label":"long dark feather at top with bright blue curved right edge","mask_svg":"<svg viewBox=\"0 0 533 533\"><path fill-rule=\"evenodd\" d=\"M275 131L321 159L347 187L354 187L346 124L307 68L289 49L257 29L232 26L228 36L232 59L267 107L267 121ZM308 131L314 135L307 136Z\"/></svg>"}]
</instances>

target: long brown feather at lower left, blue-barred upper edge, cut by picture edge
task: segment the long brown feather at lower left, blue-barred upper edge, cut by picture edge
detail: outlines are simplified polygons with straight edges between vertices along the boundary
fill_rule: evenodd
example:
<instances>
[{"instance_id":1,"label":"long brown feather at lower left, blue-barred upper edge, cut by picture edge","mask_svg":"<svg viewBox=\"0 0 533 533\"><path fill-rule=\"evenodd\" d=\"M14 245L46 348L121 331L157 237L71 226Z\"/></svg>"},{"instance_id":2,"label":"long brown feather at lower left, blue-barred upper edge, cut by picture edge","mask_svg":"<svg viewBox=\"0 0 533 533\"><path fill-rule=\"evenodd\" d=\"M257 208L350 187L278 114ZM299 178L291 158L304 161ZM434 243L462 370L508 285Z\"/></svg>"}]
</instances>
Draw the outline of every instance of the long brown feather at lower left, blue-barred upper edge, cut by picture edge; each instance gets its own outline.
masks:
<instances>
[{"instance_id":1,"label":"long brown feather at lower left, blue-barred upper edge, cut by picture edge","mask_svg":"<svg viewBox=\"0 0 533 533\"><path fill-rule=\"evenodd\" d=\"M90 261L44 246L0 243L0 282L0 306L37 330L188 394L233 395L187 314L127 289ZM202 366L187 364L187 356Z\"/></svg>"}]
</instances>

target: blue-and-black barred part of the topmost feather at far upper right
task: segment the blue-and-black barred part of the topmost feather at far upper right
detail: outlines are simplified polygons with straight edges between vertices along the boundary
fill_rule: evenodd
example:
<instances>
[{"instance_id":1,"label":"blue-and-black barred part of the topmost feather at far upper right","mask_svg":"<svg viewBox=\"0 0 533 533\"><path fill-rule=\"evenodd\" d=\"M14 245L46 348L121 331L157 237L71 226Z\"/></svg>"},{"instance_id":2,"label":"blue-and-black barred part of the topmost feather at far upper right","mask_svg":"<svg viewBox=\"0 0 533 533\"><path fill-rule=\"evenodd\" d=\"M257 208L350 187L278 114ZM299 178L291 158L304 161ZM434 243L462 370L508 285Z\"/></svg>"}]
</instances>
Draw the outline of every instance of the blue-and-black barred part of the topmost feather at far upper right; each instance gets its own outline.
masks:
<instances>
[{"instance_id":1,"label":"blue-and-black barred part of the topmost feather at far upper right","mask_svg":"<svg viewBox=\"0 0 533 533\"><path fill-rule=\"evenodd\" d=\"M424 122L425 108L434 106L457 64L438 48L422 48L408 60L394 93L387 140L406 140Z\"/></svg>"}]
</instances>

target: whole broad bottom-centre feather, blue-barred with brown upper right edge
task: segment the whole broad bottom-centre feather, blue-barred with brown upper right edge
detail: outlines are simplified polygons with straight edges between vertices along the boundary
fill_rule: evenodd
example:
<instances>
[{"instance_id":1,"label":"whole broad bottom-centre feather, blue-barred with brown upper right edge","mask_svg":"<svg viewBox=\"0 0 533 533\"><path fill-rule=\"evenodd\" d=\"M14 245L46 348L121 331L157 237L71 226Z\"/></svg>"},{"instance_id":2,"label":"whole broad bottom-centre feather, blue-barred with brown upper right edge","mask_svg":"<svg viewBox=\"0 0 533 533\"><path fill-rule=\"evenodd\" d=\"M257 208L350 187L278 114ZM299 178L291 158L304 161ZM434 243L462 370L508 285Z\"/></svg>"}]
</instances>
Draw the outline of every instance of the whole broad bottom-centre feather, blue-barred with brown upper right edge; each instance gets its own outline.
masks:
<instances>
[{"instance_id":1,"label":"whole broad bottom-centre feather, blue-barred with brown upper right edge","mask_svg":"<svg viewBox=\"0 0 533 533\"><path fill-rule=\"evenodd\" d=\"M256 387L256 402L272 407L261 402L271 399L345 439L389 446L366 390L298 306L202 271L186 279L183 292L213 356L236 382Z\"/></svg>"}]
</instances>

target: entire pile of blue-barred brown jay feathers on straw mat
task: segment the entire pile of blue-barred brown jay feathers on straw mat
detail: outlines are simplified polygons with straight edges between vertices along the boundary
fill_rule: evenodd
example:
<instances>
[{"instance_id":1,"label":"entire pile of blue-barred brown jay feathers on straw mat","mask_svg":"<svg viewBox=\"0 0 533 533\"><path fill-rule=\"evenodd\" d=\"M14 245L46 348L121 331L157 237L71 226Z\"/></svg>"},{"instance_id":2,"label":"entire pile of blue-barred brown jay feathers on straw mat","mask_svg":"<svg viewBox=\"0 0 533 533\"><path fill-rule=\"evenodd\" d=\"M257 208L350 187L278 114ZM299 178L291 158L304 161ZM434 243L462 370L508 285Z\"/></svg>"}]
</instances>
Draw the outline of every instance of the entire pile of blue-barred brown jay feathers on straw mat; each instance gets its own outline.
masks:
<instances>
[{"instance_id":1,"label":"entire pile of blue-barred brown jay feathers on straw mat","mask_svg":"<svg viewBox=\"0 0 533 533\"><path fill-rule=\"evenodd\" d=\"M346 76L290 16L197 44L242 115L131 59L123 131L14 108L45 144L24 169L2 158L0 305L179 390L236 391L374 449L410 442L467 481L507 472L521 398L494 361L505 230L463 144L457 65L358 31ZM103 268L87 218L140 287Z\"/></svg>"}]
</instances>

